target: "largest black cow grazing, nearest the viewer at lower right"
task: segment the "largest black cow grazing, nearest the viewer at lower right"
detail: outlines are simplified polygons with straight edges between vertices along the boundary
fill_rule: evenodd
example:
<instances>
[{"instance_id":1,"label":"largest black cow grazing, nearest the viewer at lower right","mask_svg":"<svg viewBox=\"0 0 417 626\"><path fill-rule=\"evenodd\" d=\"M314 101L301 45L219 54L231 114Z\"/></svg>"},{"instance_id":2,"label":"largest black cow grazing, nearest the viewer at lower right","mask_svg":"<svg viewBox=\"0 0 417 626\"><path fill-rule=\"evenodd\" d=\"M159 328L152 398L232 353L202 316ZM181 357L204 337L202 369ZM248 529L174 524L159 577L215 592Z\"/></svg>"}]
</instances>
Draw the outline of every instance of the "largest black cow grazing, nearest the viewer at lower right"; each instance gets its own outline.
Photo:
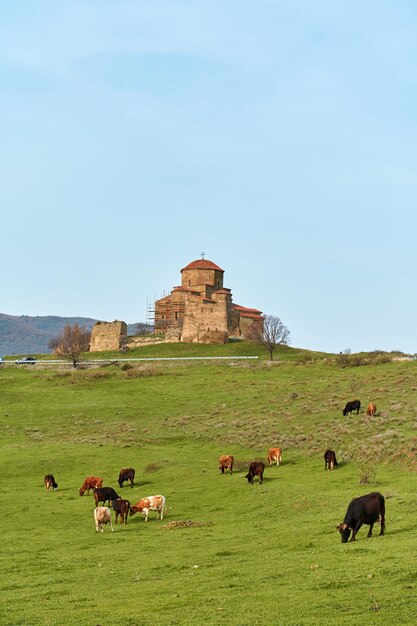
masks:
<instances>
[{"instance_id":1,"label":"largest black cow grazing, nearest the viewer at lower right","mask_svg":"<svg viewBox=\"0 0 417 626\"><path fill-rule=\"evenodd\" d=\"M342 536L342 543L346 543L351 532L351 541L355 541L356 533L362 524L369 524L367 536L372 537L372 529L375 522L381 524L381 532L379 534L383 535L385 531L385 500L384 496L378 491L354 498L348 506L343 523L336 526L336 528Z\"/></svg>"}]
</instances>

